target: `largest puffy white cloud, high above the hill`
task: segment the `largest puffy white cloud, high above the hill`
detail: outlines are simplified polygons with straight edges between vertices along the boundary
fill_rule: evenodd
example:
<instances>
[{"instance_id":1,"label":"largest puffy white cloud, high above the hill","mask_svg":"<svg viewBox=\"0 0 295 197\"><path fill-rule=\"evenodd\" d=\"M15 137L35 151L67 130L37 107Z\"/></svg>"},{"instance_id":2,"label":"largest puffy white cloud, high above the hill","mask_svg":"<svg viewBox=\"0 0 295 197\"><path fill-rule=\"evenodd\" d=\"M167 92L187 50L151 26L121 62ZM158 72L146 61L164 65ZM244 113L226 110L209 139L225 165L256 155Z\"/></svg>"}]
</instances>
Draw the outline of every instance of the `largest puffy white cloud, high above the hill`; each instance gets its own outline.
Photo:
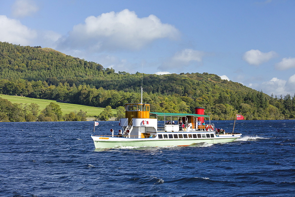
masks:
<instances>
[{"instance_id":1,"label":"largest puffy white cloud, high above the hill","mask_svg":"<svg viewBox=\"0 0 295 197\"><path fill-rule=\"evenodd\" d=\"M139 18L135 12L124 9L87 17L85 23L75 25L69 36L61 40L60 47L138 50L156 39L176 39L178 36L178 29L163 24L155 15Z\"/></svg>"}]
</instances>

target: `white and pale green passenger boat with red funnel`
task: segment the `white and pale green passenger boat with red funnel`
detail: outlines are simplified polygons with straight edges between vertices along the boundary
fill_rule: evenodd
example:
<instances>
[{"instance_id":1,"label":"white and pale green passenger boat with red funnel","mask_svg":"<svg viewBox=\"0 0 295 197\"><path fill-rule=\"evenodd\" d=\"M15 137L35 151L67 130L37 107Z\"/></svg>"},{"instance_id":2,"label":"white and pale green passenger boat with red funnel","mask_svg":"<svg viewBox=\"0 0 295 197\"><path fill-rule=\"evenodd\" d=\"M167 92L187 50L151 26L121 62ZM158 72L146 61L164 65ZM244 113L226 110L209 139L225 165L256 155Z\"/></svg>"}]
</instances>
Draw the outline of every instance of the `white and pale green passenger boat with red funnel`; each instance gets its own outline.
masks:
<instances>
[{"instance_id":1,"label":"white and pale green passenger boat with red funnel","mask_svg":"<svg viewBox=\"0 0 295 197\"><path fill-rule=\"evenodd\" d=\"M206 125L204 118L209 119ZM208 121L208 120L206 120ZM173 123L174 122L174 123ZM210 122L210 116L204 115L204 108L196 107L195 114L150 112L150 104L125 104L125 118L121 118L119 134L95 135L91 137L95 148L163 147L190 146L195 143L209 144L232 142L240 138L240 133L225 133Z\"/></svg>"}]
</instances>

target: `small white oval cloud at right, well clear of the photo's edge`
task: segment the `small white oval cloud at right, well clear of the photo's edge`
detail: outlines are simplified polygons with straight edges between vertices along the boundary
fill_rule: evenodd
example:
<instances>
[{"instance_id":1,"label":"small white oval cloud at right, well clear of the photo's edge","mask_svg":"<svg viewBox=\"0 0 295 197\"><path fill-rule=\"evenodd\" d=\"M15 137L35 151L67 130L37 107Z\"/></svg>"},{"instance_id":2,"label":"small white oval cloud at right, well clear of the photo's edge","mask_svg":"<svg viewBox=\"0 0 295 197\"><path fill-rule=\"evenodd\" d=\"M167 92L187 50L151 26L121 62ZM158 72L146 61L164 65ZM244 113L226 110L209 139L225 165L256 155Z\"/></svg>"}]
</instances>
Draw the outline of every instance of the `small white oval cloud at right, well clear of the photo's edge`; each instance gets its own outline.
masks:
<instances>
[{"instance_id":1,"label":"small white oval cloud at right, well clear of the photo's edge","mask_svg":"<svg viewBox=\"0 0 295 197\"><path fill-rule=\"evenodd\" d=\"M260 50L251 49L250 51L245 52L245 54L243 55L243 60L251 65L259 66L260 64L267 62L268 60L276 56L277 54L274 51L264 53Z\"/></svg>"}]
</instances>

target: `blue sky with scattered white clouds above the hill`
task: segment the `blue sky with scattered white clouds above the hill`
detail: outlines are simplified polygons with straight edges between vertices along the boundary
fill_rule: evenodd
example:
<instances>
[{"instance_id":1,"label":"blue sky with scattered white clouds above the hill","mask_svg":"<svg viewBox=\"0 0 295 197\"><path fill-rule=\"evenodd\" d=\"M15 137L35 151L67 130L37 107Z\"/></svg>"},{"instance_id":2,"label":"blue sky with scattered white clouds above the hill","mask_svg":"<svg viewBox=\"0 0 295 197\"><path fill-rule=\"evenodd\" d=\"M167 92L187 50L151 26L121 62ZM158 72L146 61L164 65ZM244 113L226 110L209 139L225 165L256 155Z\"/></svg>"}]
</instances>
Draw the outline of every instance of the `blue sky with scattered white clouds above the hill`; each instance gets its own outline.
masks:
<instances>
[{"instance_id":1,"label":"blue sky with scattered white clouds above the hill","mask_svg":"<svg viewBox=\"0 0 295 197\"><path fill-rule=\"evenodd\" d=\"M115 72L212 73L295 93L294 0L0 0L0 41Z\"/></svg>"}]
</instances>

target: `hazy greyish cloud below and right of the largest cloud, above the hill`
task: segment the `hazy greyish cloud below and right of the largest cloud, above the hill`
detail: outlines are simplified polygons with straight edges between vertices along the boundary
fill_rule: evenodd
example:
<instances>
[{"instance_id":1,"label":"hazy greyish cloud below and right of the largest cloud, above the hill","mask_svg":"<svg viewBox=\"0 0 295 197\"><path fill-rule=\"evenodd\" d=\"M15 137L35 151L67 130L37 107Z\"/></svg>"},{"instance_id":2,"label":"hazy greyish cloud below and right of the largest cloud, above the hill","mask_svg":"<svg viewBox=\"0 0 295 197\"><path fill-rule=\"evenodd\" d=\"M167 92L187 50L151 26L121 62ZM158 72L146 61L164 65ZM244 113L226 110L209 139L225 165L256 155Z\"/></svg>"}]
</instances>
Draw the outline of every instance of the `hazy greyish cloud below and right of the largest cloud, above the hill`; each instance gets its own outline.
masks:
<instances>
[{"instance_id":1,"label":"hazy greyish cloud below and right of the largest cloud, above the hill","mask_svg":"<svg viewBox=\"0 0 295 197\"><path fill-rule=\"evenodd\" d=\"M193 49L183 49L176 52L173 57L164 62L158 67L159 70L173 69L181 71L184 66L188 66L191 63L198 62L201 63L203 57L206 55L203 51L193 50Z\"/></svg>"}]
</instances>

